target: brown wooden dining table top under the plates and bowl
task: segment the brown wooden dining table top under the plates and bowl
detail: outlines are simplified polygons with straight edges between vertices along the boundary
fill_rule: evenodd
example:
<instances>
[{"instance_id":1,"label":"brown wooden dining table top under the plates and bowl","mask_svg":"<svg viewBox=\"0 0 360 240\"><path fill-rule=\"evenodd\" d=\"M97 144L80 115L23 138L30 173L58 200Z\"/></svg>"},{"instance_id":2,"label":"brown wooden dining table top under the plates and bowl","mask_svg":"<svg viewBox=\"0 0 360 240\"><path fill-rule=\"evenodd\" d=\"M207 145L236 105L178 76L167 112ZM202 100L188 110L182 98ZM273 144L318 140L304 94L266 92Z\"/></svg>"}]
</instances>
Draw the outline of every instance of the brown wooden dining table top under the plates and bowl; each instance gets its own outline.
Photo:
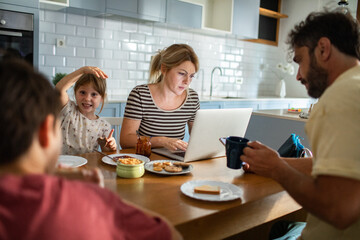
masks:
<instances>
[{"instance_id":1,"label":"brown wooden dining table top under the plates and bowl","mask_svg":"<svg viewBox=\"0 0 360 240\"><path fill-rule=\"evenodd\" d=\"M134 153L124 149L120 153ZM111 154L111 153L108 153ZM116 166L102 161L100 153L86 153L87 166L102 171L105 187L121 198L166 217L184 239L223 239L301 209L289 194L270 178L226 167L219 157L191 162L184 175L160 175L146 171L140 178L121 178ZM166 157L152 153L150 160ZM180 187L192 180L211 180L239 187L241 197L231 201L204 201L184 195Z\"/></svg>"}]
</instances>

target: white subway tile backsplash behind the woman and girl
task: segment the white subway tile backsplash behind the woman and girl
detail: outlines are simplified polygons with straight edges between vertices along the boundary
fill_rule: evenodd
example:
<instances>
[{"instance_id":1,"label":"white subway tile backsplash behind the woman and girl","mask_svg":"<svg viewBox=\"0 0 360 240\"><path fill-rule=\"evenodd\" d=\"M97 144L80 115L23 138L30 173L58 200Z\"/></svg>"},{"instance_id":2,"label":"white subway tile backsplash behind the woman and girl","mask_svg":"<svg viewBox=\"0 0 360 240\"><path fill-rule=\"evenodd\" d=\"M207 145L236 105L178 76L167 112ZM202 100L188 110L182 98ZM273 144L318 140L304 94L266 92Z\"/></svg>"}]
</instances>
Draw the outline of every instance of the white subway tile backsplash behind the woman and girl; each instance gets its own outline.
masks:
<instances>
[{"instance_id":1,"label":"white subway tile backsplash behind the woman and girl","mask_svg":"<svg viewBox=\"0 0 360 240\"><path fill-rule=\"evenodd\" d=\"M56 39L65 47L56 47ZM260 64L275 67L279 49L237 40L234 36L214 36L129 18L109 19L40 10L40 71L49 78L56 72L72 72L88 65L103 69L108 79L108 97L127 95L137 84L147 83L151 56L173 43L186 43L199 57L201 78L192 88L208 95L211 70L214 95L256 97L273 95L277 77ZM201 93L202 89L204 92Z\"/></svg>"}]
</instances>

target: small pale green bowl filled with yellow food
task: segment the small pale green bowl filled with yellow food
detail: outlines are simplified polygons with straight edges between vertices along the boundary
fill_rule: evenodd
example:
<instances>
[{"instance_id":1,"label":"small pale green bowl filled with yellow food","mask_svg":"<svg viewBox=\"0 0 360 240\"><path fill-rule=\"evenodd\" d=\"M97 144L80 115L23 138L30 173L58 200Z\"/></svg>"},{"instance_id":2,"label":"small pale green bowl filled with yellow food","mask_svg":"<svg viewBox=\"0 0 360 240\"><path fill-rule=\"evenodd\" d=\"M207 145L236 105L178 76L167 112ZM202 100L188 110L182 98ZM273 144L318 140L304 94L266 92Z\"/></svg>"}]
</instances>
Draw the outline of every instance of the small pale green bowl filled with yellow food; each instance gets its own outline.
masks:
<instances>
[{"instance_id":1,"label":"small pale green bowl filled with yellow food","mask_svg":"<svg viewBox=\"0 0 360 240\"><path fill-rule=\"evenodd\" d=\"M116 173L122 178L139 178L145 173L144 161L137 158L121 158L116 165Z\"/></svg>"}]
</instances>

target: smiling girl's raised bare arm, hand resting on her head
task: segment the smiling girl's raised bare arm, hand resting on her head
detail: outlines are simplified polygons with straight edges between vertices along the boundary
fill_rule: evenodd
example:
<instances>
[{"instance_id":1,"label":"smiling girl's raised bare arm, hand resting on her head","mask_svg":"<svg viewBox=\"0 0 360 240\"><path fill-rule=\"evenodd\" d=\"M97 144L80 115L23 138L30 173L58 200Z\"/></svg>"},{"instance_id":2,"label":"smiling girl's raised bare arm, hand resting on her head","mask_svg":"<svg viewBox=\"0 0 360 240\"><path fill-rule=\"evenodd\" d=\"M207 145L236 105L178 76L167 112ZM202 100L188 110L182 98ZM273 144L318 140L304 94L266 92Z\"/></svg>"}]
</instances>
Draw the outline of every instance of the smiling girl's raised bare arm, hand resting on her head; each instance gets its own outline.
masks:
<instances>
[{"instance_id":1,"label":"smiling girl's raised bare arm, hand resting on her head","mask_svg":"<svg viewBox=\"0 0 360 240\"><path fill-rule=\"evenodd\" d=\"M97 77L107 78L108 76L98 67L81 67L75 70L72 73L69 73L65 77L63 77L55 86L56 89L60 91L60 101L61 105L65 106L66 103L69 101L69 96L67 95L67 90L76 83L79 78L86 73L95 74Z\"/></svg>"}]
</instances>

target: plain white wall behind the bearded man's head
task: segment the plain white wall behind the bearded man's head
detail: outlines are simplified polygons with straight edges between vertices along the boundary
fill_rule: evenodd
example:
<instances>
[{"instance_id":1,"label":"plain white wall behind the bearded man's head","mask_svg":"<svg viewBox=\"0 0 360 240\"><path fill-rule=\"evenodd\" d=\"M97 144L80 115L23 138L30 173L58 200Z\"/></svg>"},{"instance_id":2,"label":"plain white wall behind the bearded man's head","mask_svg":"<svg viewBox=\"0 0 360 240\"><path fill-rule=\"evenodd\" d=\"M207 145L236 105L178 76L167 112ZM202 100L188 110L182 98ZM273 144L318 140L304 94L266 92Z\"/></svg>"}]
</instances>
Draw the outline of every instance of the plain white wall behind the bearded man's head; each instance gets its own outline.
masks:
<instances>
[{"instance_id":1,"label":"plain white wall behind the bearded man's head","mask_svg":"<svg viewBox=\"0 0 360 240\"><path fill-rule=\"evenodd\" d=\"M294 27L295 24L304 20L310 12L321 11L324 7L332 10L338 7L338 0L283 0L282 1L282 13L289 16L289 18L282 19L280 21L280 34L279 34L279 49L282 53L282 58L285 60L289 57L287 54L288 46L285 44L287 34ZM349 9L354 17L356 17L357 0L349 0ZM297 66L294 64L297 71ZM286 90L288 96L293 97L307 97L306 89L298 81L295 80L295 76L287 78Z\"/></svg>"}]
</instances>

